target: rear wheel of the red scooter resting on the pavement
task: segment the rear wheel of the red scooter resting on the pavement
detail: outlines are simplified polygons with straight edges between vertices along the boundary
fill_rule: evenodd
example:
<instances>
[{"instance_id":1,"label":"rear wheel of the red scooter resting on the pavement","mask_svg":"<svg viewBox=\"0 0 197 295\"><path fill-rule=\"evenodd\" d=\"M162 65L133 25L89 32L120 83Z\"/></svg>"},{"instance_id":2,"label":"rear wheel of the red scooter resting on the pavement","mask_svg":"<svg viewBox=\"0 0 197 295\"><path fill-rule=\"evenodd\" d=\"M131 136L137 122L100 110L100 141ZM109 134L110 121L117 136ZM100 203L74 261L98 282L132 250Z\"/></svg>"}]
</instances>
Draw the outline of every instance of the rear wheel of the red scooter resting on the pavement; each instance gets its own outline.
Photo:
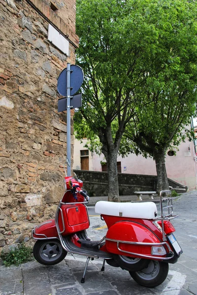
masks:
<instances>
[{"instance_id":1,"label":"rear wheel of the red scooter resting on the pavement","mask_svg":"<svg viewBox=\"0 0 197 295\"><path fill-rule=\"evenodd\" d=\"M135 282L144 287L157 287L161 285L168 274L168 263L150 260L148 266L139 271L129 271Z\"/></svg>"}]
</instances>

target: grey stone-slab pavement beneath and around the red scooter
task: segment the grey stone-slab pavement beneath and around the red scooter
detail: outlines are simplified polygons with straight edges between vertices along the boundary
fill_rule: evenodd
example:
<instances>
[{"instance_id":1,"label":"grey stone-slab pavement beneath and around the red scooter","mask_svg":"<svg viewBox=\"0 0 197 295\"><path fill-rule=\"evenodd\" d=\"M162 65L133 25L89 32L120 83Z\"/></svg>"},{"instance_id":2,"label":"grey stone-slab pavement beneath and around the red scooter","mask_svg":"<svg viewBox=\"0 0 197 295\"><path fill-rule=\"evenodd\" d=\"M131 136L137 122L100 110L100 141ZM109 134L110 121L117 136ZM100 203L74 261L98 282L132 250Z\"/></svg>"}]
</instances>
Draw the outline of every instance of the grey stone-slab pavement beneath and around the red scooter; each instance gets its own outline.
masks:
<instances>
[{"instance_id":1,"label":"grey stone-slab pavement beneath and around the red scooter","mask_svg":"<svg viewBox=\"0 0 197 295\"><path fill-rule=\"evenodd\" d=\"M179 217L172 221L183 254L169 265L167 279L156 288L135 283L128 271L105 266L101 260L89 263L84 284L80 283L86 258L67 254L56 266L42 266L36 261L21 266L0 266L0 295L197 295L197 191L185 193L173 201ZM104 221L90 216L89 237L105 235Z\"/></svg>"}]
</instances>

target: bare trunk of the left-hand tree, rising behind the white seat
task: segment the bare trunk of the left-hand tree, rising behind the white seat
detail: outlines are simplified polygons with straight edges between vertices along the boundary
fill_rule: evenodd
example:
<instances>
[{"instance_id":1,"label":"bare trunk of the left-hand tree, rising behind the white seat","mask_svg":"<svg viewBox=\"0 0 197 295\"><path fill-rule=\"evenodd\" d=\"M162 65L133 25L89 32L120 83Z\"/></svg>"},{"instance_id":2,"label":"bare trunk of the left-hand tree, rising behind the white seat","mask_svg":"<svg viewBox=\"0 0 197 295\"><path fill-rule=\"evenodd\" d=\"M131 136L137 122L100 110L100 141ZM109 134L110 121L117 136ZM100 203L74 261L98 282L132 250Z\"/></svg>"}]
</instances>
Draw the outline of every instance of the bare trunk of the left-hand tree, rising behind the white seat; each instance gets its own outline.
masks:
<instances>
[{"instance_id":1,"label":"bare trunk of the left-hand tree, rising behind the white seat","mask_svg":"<svg viewBox=\"0 0 197 295\"><path fill-rule=\"evenodd\" d=\"M118 171L117 171L117 155L116 149L110 151L105 155L108 172L108 201L120 202L119 185L118 185Z\"/></svg>"}]
</instances>

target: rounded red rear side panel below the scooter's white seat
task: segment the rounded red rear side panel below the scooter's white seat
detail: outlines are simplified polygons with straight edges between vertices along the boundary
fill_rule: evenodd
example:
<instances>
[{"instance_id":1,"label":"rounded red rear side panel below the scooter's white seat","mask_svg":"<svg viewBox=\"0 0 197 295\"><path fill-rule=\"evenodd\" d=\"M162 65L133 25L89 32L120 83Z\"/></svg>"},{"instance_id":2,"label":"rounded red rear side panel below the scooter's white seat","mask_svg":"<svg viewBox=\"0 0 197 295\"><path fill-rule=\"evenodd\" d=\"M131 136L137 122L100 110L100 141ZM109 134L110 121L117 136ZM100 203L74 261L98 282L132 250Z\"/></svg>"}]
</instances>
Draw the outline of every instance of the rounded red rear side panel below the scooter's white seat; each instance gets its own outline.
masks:
<instances>
[{"instance_id":1,"label":"rounded red rear side panel below the scooter's white seat","mask_svg":"<svg viewBox=\"0 0 197 295\"><path fill-rule=\"evenodd\" d=\"M130 257L136 257L133 254L136 253L137 256L153 259L152 246L162 246L161 243L150 229L136 221L117 222L109 228L106 235L108 252Z\"/></svg>"}]
</instances>

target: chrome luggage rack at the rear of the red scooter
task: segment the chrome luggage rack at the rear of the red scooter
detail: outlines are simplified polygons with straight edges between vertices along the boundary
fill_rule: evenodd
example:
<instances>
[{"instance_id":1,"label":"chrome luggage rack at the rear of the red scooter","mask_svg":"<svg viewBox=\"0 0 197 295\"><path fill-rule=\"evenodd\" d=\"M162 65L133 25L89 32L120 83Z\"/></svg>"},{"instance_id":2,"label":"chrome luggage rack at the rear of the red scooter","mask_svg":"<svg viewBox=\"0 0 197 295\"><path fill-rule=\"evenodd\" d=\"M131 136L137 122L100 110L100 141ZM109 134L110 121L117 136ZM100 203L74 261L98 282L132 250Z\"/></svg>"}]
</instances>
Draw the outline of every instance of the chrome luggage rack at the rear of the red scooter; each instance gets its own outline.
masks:
<instances>
[{"instance_id":1,"label":"chrome luggage rack at the rear of the red scooter","mask_svg":"<svg viewBox=\"0 0 197 295\"><path fill-rule=\"evenodd\" d=\"M162 194L166 194L168 195L168 197L162 198ZM167 206L163 207L163 202L167 202ZM161 216L154 218L154 220L162 221L162 235L163 235L163 241L164 241L166 240L164 236L164 220L170 220L179 216L179 215L173 215L172 195L170 190L163 190L160 192L160 209L161 209Z\"/></svg>"}]
</instances>

